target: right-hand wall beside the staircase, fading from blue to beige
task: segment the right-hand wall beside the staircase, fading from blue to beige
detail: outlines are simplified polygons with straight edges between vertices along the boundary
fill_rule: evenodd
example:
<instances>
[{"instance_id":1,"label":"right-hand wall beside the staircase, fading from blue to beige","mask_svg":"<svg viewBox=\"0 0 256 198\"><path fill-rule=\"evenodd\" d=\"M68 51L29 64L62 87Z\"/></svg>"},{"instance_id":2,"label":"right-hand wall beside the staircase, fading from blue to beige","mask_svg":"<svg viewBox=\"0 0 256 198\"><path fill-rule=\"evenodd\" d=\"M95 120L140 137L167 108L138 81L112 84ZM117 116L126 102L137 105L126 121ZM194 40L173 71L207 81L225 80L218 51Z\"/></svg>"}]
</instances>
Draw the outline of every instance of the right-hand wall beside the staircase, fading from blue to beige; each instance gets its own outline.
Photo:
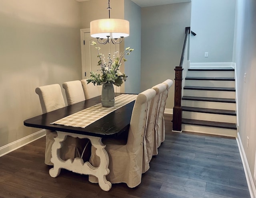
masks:
<instances>
[{"instance_id":1,"label":"right-hand wall beside the staircase, fading from blue to beige","mask_svg":"<svg viewBox=\"0 0 256 198\"><path fill-rule=\"evenodd\" d=\"M250 172L254 174L255 148L256 148L256 1L237 0L236 27L234 39L234 59L237 72L239 130L238 135ZM244 82L246 73L246 82ZM249 144L247 147L247 137ZM254 180L255 190L255 180ZM255 192L254 192L255 193ZM254 195L256 196L256 194Z\"/></svg>"}]
</instances>

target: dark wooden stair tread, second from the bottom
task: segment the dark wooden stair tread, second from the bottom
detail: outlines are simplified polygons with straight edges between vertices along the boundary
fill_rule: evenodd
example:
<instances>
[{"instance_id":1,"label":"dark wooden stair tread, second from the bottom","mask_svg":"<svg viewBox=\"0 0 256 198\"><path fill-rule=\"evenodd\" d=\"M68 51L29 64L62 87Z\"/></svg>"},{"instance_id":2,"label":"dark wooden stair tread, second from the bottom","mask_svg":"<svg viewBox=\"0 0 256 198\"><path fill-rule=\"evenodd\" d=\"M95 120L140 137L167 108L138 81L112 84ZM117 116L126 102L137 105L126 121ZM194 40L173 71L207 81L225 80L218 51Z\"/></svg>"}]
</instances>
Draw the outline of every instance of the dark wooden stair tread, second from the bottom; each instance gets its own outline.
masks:
<instances>
[{"instance_id":1,"label":"dark wooden stair tread, second from the bottom","mask_svg":"<svg viewBox=\"0 0 256 198\"><path fill-rule=\"evenodd\" d=\"M223 110L223 109L210 109L210 108L182 106L182 111L236 116L236 111L234 111L234 110Z\"/></svg>"}]
</instances>

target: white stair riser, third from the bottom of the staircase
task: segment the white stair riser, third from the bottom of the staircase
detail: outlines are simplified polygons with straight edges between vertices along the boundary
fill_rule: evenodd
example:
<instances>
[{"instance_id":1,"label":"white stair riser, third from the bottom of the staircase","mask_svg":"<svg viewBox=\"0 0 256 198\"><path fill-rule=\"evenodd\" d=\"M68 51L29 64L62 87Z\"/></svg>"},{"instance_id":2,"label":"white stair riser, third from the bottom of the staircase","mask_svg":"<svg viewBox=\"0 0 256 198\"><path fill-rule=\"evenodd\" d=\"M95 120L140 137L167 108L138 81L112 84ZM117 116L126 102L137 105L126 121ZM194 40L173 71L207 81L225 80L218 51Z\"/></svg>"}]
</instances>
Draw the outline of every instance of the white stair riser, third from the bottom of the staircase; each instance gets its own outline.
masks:
<instances>
[{"instance_id":1,"label":"white stair riser, third from the bottom of the staircase","mask_svg":"<svg viewBox=\"0 0 256 198\"><path fill-rule=\"evenodd\" d=\"M236 110L236 104L228 103L228 102L182 100L182 106L200 107L200 108L209 108L209 109Z\"/></svg>"}]
</instances>

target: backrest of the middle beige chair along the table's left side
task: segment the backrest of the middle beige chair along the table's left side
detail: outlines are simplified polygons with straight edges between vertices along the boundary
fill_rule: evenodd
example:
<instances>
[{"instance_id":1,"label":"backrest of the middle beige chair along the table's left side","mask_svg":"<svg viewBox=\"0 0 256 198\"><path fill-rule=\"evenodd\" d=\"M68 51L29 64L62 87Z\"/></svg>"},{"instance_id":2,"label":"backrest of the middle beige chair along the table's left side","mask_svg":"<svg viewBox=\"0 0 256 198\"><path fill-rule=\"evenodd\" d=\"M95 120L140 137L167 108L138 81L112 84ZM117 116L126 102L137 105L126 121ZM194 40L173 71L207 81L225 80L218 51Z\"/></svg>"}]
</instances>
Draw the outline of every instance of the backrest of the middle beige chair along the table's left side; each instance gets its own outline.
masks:
<instances>
[{"instance_id":1,"label":"backrest of the middle beige chair along the table's left side","mask_svg":"<svg viewBox=\"0 0 256 198\"><path fill-rule=\"evenodd\" d=\"M63 82L62 87L65 89L68 105L85 100L84 90L80 80Z\"/></svg>"}]
</instances>

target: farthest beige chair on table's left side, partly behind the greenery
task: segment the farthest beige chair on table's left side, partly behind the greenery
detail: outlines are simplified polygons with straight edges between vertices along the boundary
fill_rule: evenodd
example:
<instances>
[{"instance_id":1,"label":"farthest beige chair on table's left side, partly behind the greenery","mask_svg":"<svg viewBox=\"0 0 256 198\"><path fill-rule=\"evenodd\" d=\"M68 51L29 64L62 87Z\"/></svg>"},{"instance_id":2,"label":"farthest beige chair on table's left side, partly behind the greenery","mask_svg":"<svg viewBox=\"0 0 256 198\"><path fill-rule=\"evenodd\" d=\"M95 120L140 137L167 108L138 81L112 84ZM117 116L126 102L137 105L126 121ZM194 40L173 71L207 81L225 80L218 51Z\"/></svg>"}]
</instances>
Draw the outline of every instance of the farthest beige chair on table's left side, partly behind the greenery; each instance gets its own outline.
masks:
<instances>
[{"instance_id":1,"label":"farthest beige chair on table's left side, partly behind the greenery","mask_svg":"<svg viewBox=\"0 0 256 198\"><path fill-rule=\"evenodd\" d=\"M92 82L87 84L86 79L81 80L81 82L84 89L84 96L86 100L101 95L102 86L94 85Z\"/></svg>"}]
</instances>

